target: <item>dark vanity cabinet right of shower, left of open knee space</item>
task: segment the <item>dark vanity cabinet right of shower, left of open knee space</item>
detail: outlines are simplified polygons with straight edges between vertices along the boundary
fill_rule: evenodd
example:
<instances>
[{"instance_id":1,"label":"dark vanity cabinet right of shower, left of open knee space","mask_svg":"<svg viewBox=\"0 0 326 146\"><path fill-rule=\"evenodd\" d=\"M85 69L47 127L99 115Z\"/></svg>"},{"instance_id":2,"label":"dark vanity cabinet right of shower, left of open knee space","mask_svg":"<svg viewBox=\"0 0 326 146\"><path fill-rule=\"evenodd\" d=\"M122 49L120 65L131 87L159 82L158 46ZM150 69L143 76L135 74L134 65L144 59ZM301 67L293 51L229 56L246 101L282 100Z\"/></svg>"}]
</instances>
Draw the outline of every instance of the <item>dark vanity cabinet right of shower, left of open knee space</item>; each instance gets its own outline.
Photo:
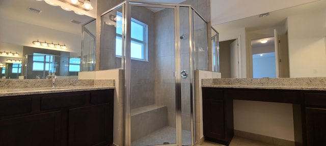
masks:
<instances>
[{"instance_id":1,"label":"dark vanity cabinet right of shower, left of open knee space","mask_svg":"<svg viewBox=\"0 0 326 146\"><path fill-rule=\"evenodd\" d=\"M203 88L203 126L206 140L229 145L233 137L232 100L224 98L224 91ZM226 106L227 105L227 106ZM230 115L231 114L231 115Z\"/></svg>"}]
</instances>

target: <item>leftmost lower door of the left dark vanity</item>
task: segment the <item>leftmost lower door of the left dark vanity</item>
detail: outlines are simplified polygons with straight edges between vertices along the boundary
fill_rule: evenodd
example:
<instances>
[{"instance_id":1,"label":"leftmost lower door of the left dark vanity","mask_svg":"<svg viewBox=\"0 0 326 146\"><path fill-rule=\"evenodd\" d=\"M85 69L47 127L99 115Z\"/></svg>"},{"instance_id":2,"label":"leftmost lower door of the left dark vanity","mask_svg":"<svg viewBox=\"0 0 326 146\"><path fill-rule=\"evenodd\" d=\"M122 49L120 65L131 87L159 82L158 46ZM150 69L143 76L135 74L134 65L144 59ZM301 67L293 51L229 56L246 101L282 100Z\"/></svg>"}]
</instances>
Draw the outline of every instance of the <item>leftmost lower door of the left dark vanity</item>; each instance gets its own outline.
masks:
<instances>
[{"instance_id":1,"label":"leftmost lower door of the left dark vanity","mask_svg":"<svg viewBox=\"0 0 326 146\"><path fill-rule=\"evenodd\" d=\"M0 120L0 145L60 145L61 112Z\"/></svg>"}]
</instances>

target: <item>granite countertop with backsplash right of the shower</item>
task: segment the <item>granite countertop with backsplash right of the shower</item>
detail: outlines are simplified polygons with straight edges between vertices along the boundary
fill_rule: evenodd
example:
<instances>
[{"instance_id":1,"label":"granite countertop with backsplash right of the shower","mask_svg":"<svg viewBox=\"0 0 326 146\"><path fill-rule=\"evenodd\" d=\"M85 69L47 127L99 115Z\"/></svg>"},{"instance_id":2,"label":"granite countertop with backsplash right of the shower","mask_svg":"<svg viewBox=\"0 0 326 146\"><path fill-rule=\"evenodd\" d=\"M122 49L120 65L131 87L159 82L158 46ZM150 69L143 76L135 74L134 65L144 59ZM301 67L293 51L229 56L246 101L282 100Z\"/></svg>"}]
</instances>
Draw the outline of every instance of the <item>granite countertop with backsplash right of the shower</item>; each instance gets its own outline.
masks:
<instances>
[{"instance_id":1,"label":"granite countertop with backsplash right of the shower","mask_svg":"<svg viewBox=\"0 0 326 146\"><path fill-rule=\"evenodd\" d=\"M202 87L326 91L326 78L202 79Z\"/></svg>"}]
</instances>

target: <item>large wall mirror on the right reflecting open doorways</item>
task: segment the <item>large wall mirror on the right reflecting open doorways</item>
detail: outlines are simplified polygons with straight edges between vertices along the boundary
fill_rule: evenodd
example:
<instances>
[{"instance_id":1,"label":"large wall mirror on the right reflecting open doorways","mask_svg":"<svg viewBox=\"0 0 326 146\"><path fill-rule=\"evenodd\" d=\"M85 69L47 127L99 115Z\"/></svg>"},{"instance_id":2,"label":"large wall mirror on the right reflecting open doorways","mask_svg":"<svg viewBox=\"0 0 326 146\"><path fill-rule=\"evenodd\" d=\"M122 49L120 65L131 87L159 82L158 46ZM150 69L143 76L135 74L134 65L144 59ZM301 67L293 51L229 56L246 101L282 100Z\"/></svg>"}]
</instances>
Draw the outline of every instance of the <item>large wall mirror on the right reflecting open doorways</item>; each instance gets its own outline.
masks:
<instances>
[{"instance_id":1,"label":"large wall mirror on the right reflecting open doorways","mask_svg":"<svg viewBox=\"0 0 326 146\"><path fill-rule=\"evenodd\" d=\"M326 77L325 0L213 28L222 78Z\"/></svg>"}]
</instances>

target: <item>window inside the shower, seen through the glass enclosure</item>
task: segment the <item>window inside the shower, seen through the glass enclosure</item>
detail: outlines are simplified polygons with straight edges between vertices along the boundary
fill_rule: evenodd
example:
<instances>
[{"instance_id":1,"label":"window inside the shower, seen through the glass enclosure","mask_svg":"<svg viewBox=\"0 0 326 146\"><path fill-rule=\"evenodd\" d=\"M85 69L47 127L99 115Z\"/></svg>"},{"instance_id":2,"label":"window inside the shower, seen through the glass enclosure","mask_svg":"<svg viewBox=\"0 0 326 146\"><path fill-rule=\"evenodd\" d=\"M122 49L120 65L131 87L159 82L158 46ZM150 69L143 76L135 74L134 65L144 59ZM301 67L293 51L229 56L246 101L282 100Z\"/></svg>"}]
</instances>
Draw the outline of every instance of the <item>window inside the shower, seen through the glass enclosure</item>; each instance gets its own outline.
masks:
<instances>
[{"instance_id":1,"label":"window inside the shower, seen through the glass enclosure","mask_svg":"<svg viewBox=\"0 0 326 146\"><path fill-rule=\"evenodd\" d=\"M122 15L117 12L116 56L122 55ZM131 18L131 59L147 61L148 25Z\"/></svg>"}]
</instances>

